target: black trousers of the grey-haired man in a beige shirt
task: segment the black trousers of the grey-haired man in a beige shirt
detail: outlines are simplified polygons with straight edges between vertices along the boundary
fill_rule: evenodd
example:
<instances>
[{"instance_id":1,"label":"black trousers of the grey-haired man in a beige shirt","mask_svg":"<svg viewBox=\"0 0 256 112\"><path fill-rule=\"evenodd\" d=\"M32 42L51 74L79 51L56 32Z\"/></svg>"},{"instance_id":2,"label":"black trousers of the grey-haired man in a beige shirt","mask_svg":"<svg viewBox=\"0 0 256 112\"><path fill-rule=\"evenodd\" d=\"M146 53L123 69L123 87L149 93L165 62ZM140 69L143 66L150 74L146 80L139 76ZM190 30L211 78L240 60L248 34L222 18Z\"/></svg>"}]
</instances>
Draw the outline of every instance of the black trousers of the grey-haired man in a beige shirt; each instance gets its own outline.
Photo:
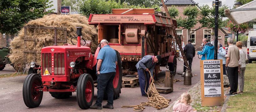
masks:
<instances>
[{"instance_id":1,"label":"black trousers of the grey-haired man in a beige shirt","mask_svg":"<svg viewBox=\"0 0 256 112\"><path fill-rule=\"evenodd\" d=\"M237 91L238 86L238 67L227 67L227 76L229 77L230 91L232 94Z\"/></svg>"}]
</instances>

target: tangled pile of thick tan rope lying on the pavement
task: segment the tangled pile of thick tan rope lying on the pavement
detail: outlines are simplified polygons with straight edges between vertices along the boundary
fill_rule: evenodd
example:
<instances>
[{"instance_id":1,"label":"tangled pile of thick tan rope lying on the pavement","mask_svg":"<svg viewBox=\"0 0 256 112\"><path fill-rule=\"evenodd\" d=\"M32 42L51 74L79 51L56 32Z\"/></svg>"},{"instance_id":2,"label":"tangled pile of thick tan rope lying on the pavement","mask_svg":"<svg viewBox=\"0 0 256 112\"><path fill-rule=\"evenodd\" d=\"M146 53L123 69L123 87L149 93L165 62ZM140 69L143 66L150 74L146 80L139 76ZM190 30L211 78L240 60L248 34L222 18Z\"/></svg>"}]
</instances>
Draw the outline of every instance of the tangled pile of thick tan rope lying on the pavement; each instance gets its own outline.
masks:
<instances>
[{"instance_id":1,"label":"tangled pile of thick tan rope lying on the pavement","mask_svg":"<svg viewBox=\"0 0 256 112\"><path fill-rule=\"evenodd\" d=\"M150 72L149 72L150 73ZM151 76L151 73L150 73ZM125 105L121 106L122 108L130 108L133 107L134 111L143 111L145 109L144 106L151 106L156 108L157 110L163 109L169 106L169 102L171 100L166 100L165 97L160 96L155 88L154 81L152 81L149 85L148 91L146 92L148 95L148 102L142 102L140 105Z\"/></svg>"}]
</instances>

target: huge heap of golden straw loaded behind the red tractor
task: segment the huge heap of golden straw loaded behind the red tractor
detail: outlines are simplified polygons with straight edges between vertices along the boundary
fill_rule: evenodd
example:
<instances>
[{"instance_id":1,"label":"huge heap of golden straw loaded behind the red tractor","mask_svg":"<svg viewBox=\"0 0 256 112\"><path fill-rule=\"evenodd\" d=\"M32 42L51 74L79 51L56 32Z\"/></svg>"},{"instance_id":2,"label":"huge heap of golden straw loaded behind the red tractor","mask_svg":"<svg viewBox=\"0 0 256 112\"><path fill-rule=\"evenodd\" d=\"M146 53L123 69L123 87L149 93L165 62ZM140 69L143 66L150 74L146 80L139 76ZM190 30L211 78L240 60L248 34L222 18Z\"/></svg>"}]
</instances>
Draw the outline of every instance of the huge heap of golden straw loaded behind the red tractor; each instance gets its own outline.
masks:
<instances>
[{"instance_id":1,"label":"huge heap of golden straw loaded behind the red tractor","mask_svg":"<svg viewBox=\"0 0 256 112\"><path fill-rule=\"evenodd\" d=\"M43 18L29 21L26 25L29 26L52 26L52 27L66 27L67 28L67 43L71 44L70 39L76 35L76 27L81 26L82 38L91 40L91 52L95 53L98 45L97 28L88 25L88 20L85 16L76 15L45 15ZM31 29L27 28L27 38L38 39L34 46L34 41L26 40L24 45L24 28L19 31L18 36L10 43L10 60L17 69L19 66L29 64L36 58L36 63L41 64L41 48L51 46L54 44L54 30L50 29ZM57 30L57 39L64 40L64 30ZM58 45L65 43L58 42ZM26 53L28 63L23 62L24 50L37 50L36 57L33 53Z\"/></svg>"}]
</instances>

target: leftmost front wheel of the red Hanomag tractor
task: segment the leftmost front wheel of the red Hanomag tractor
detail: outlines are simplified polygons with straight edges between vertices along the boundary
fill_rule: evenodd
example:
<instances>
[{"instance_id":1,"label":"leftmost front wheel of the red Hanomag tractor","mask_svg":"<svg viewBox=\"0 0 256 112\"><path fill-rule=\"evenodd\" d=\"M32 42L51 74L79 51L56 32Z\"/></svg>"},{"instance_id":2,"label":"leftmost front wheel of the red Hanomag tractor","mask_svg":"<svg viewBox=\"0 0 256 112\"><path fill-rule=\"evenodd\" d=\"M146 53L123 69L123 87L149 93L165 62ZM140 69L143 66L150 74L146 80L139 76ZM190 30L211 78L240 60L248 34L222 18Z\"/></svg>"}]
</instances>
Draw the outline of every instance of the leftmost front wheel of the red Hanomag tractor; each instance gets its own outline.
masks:
<instances>
[{"instance_id":1,"label":"leftmost front wheel of the red Hanomag tractor","mask_svg":"<svg viewBox=\"0 0 256 112\"><path fill-rule=\"evenodd\" d=\"M25 105L29 108L38 107L43 98L43 91L36 91L37 86L42 85L42 79L37 74L27 75L22 89L22 96Z\"/></svg>"}]
</instances>

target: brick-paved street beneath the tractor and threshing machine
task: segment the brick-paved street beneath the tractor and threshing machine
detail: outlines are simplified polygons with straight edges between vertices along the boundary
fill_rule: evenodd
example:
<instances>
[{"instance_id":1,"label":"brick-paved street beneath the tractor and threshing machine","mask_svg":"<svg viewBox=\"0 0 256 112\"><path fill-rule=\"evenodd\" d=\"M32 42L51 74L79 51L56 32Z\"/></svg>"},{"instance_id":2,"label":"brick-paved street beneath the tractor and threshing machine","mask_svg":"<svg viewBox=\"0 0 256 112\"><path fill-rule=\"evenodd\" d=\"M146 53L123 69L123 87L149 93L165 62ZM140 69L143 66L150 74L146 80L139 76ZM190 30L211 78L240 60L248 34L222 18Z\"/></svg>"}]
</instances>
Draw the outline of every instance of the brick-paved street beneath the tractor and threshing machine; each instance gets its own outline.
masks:
<instances>
[{"instance_id":1,"label":"brick-paved street beneath the tractor and threshing machine","mask_svg":"<svg viewBox=\"0 0 256 112\"><path fill-rule=\"evenodd\" d=\"M177 72L181 73L183 71L183 66L180 64L183 61L178 61ZM159 74L159 78L165 77L165 67L161 67L162 72ZM0 72L2 73L2 71ZM174 91L169 94L161 94L166 99L171 99L171 104L174 100L179 98L179 96L186 92L188 89L194 86L196 82L200 80L200 65L199 59L196 57L193 59L192 63L192 73L197 74L198 76L192 77L192 86L185 86L183 82L174 83ZM102 109L102 110L81 110L76 102L76 92L73 93L68 99L60 100L53 98L48 92L43 93L42 103L37 108L27 108L23 102L22 98L22 85L26 76L17 76L17 77L8 77L8 78L0 78L0 111L13 112L13 111L88 111L88 112L129 112L133 111L133 108L121 108L122 105L138 105L140 102L147 102L147 97L141 96L140 87L135 88L122 88L122 93L120 94L120 98L114 100L114 110L110 109ZM181 75L176 74L175 79L183 79ZM163 84L162 84L163 85ZM158 86L158 85L156 85ZM97 92L94 92L94 101L97 98ZM103 105L106 104L106 100L103 100ZM156 110L153 107L147 107L144 110L145 112L150 111L162 111Z\"/></svg>"}]
</instances>

